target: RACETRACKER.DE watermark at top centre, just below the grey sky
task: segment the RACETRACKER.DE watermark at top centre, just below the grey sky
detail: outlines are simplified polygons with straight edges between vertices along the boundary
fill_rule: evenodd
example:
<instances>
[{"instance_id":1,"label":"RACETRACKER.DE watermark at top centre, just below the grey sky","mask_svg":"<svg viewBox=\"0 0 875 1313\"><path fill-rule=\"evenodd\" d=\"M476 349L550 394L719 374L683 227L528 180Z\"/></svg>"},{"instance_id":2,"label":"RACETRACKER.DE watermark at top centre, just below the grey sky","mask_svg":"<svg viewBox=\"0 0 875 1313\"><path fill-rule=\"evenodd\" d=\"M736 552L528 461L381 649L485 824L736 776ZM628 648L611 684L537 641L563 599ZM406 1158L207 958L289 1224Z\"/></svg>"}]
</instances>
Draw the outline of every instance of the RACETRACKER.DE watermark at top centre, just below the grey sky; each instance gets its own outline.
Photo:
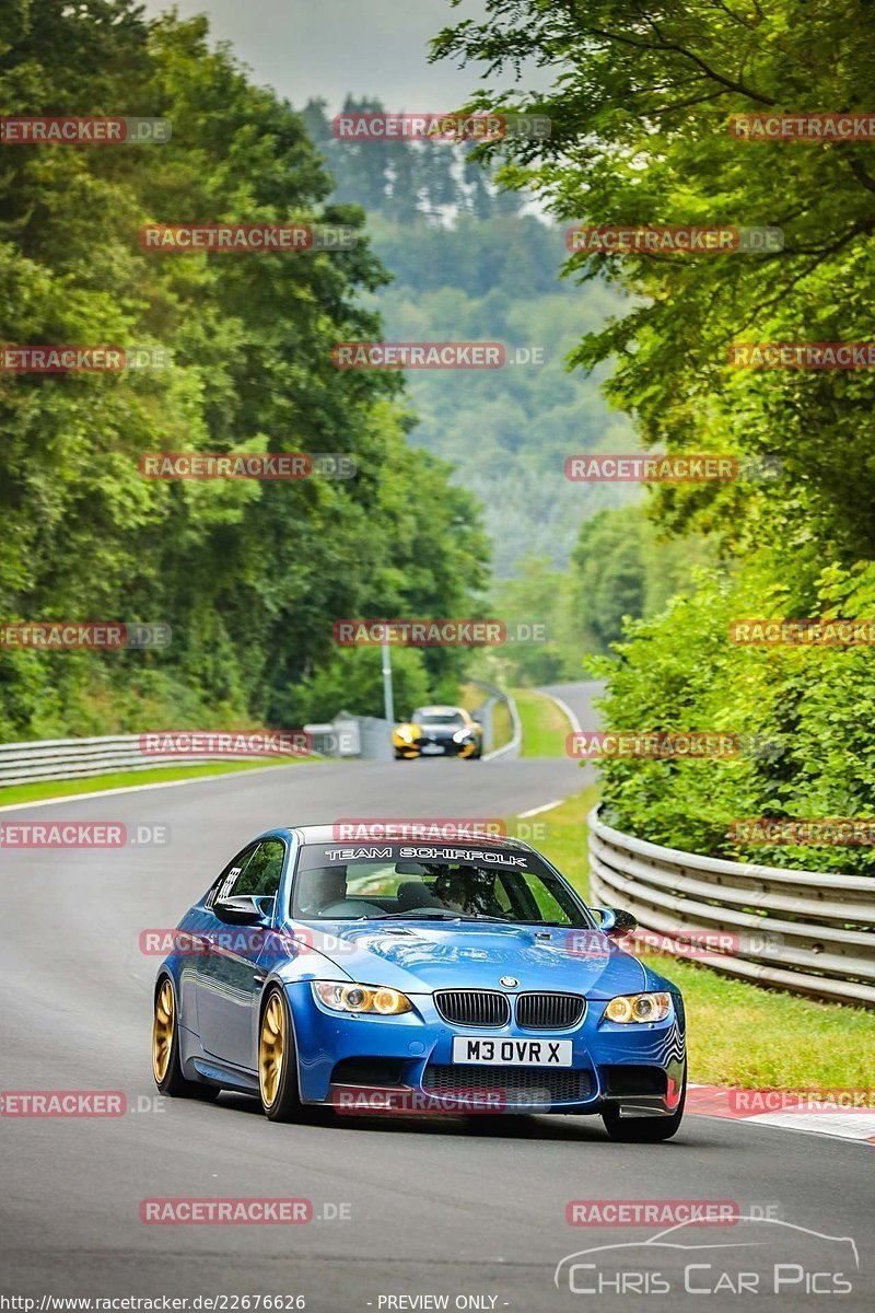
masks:
<instances>
[{"instance_id":1,"label":"RACETRACKER.DE watermark at top centre, just below the grey sky","mask_svg":"<svg viewBox=\"0 0 875 1313\"><path fill-rule=\"evenodd\" d=\"M547 140L552 122L546 114L420 113L374 112L342 113L332 119L338 142L499 142L508 137Z\"/></svg>"}]
</instances>

